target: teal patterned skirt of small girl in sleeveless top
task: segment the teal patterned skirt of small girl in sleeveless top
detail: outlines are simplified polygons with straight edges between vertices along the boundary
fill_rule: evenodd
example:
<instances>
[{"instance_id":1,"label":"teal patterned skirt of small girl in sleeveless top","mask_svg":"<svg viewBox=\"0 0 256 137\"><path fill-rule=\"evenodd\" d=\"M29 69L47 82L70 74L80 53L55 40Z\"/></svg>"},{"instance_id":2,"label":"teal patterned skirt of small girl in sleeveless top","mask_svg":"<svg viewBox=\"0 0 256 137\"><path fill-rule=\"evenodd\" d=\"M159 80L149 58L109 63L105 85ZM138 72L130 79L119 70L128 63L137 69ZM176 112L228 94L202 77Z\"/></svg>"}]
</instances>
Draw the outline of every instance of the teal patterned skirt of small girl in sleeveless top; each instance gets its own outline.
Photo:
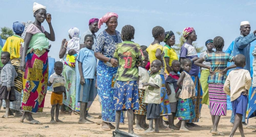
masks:
<instances>
[{"instance_id":1,"label":"teal patterned skirt of small girl in sleeveless top","mask_svg":"<svg viewBox=\"0 0 256 137\"><path fill-rule=\"evenodd\" d=\"M178 120L193 120L195 118L195 109L191 98L179 99L176 117Z\"/></svg>"}]
</instances>

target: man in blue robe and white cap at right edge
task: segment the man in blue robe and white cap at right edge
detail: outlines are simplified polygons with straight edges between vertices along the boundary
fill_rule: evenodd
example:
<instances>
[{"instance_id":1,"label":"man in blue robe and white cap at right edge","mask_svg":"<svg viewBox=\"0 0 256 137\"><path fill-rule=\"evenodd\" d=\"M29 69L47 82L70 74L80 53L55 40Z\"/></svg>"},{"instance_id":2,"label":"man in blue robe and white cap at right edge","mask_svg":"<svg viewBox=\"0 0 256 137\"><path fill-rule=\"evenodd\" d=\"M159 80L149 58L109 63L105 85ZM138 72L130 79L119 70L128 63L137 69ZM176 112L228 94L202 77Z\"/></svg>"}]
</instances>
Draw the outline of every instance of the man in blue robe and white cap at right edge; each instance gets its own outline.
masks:
<instances>
[{"instance_id":1,"label":"man in blue robe and white cap at right edge","mask_svg":"<svg viewBox=\"0 0 256 137\"><path fill-rule=\"evenodd\" d=\"M234 41L234 47L233 47L233 56L235 57L237 54L243 54L245 56L245 63L244 69L250 71L250 43L256 40L255 33L256 30L253 31L253 33L250 34L250 23L249 21L242 21L240 24L240 35L236 37ZM245 123L245 115L246 111L244 112L242 123L244 128L251 128L255 129L253 126L249 126L247 123ZM232 115L230 118L231 125L233 126L235 120L235 116L232 111Z\"/></svg>"}]
</instances>

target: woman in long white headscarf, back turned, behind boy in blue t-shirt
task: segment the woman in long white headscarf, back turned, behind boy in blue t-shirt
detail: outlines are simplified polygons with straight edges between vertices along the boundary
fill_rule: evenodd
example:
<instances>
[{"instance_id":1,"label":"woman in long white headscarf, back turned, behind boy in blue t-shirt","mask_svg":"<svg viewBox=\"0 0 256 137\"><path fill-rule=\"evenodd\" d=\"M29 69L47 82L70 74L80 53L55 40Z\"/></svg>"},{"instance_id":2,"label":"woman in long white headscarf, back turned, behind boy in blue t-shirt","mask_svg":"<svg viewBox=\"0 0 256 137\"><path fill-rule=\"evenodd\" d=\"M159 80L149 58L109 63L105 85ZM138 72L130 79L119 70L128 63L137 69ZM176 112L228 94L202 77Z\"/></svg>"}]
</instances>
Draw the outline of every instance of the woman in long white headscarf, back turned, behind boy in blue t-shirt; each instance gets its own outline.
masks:
<instances>
[{"instance_id":1,"label":"woman in long white headscarf, back turned, behind boy in blue t-shirt","mask_svg":"<svg viewBox=\"0 0 256 137\"><path fill-rule=\"evenodd\" d=\"M59 57L63 60L65 60L65 58L67 57L69 50L74 49L77 54L80 50L79 29L73 27L68 30L68 33L71 40L66 41L66 39L63 39L59 52ZM69 66L67 63L64 63L63 76L65 77L65 80L67 82L67 99L63 100L63 107L61 107L61 113L65 113L70 108L72 109L72 113L74 113L76 110L76 68L73 66ZM65 108L67 107L69 108L66 110Z\"/></svg>"}]
</instances>

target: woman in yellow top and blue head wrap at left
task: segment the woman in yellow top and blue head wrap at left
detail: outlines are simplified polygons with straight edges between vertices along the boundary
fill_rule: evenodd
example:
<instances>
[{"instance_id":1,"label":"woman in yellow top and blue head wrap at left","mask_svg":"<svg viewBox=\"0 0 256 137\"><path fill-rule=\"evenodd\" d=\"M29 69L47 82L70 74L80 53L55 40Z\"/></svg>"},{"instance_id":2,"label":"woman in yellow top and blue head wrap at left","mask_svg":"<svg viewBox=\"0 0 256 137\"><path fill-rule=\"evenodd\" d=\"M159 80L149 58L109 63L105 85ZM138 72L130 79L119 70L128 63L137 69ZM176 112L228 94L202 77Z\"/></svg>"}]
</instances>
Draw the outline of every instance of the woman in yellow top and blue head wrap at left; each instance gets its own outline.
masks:
<instances>
[{"instance_id":1,"label":"woman in yellow top and blue head wrap at left","mask_svg":"<svg viewBox=\"0 0 256 137\"><path fill-rule=\"evenodd\" d=\"M15 67L18 77L15 78L15 96L16 100L10 102L10 108L15 110L15 117L22 116L20 112L21 105L21 90L22 90L22 71L19 70L20 67L20 51L22 51L21 43L24 40L21 38L21 34L24 31L25 26L20 22L15 22L12 25L12 29L15 34L8 37L6 43L3 46L2 51L7 51L11 54L11 63ZM3 107L5 107L5 101L3 100Z\"/></svg>"}]
</instances>

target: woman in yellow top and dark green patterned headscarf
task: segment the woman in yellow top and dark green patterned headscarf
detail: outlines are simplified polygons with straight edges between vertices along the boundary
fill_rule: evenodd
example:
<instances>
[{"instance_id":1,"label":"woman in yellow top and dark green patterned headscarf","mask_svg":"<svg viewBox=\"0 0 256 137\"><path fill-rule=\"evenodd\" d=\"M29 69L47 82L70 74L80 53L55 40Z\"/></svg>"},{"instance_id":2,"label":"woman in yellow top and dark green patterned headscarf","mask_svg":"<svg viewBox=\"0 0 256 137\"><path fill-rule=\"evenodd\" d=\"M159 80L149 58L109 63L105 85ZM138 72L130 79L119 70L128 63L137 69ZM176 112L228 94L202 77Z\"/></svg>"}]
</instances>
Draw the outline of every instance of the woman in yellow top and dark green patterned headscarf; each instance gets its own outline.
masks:
<instances>
[{"instance_id":1,"label":"woman in yellow top and dark green patterned headscarf","mask_svg":"<svg viewBox=\"0 0 256 137\"><path fill-rule=\"evenodd\" d=\"M170 71L172 71L172 61L173 60L179 60L177 53L174 49L172 49L172 46L175 44L175 35L172 31L167 31L165 33L165 38L163 42L166 43L166 45L163 47L164 51L164 61L165 61L165 79L169 75Z\"/></svg>"}]
</instances>

